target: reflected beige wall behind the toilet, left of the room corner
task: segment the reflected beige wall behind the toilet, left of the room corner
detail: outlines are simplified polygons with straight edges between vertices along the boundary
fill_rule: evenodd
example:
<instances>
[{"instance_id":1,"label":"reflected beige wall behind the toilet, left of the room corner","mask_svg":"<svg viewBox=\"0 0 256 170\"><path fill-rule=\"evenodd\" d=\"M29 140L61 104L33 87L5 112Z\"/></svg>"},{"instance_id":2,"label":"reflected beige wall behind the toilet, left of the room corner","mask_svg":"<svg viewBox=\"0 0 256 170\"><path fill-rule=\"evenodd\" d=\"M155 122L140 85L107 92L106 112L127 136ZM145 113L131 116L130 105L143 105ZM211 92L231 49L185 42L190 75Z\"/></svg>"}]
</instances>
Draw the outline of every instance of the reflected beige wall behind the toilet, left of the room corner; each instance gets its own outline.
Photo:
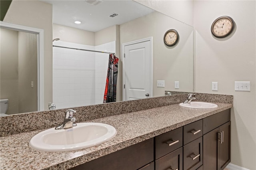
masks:
<instances>
[{"instance_id":1,"label":"reflected beige wall behind the toilet, left of the room corner","mask_svg":"<svg viewBox=\"0 0 256 170\"><path fill-rule=\"evenodd\" d=\"M18 113L18 31L1 28L0 98L9 99L7 114Z\"/></svg>"}]
</instances>

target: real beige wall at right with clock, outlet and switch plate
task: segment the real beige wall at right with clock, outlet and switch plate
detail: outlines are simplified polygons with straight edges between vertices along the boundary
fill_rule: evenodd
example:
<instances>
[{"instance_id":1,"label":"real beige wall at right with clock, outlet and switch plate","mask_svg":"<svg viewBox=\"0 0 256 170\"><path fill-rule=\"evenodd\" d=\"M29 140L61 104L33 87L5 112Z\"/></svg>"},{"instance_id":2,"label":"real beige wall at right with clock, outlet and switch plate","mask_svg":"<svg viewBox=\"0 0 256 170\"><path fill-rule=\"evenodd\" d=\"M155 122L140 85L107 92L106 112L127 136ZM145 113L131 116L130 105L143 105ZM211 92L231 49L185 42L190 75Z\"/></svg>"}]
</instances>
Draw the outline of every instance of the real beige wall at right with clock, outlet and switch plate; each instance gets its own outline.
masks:
<instances>
[{"instance_id":1,"label":"real beige wall at right with clock, outlet and switch plate","mask_svg":"<svg viewBox=\"0 0 256 170\"><path fill-rule=\"evenodd\" d=\"M233 18L236 28L222 39L212 22ZM194 1L195 91L234 95L231 163L256 169L256 1ZM211 90L212 81L218 91ZM250 81L251 91L234 91L234 81Z\"/></svg>"}]
</instances>

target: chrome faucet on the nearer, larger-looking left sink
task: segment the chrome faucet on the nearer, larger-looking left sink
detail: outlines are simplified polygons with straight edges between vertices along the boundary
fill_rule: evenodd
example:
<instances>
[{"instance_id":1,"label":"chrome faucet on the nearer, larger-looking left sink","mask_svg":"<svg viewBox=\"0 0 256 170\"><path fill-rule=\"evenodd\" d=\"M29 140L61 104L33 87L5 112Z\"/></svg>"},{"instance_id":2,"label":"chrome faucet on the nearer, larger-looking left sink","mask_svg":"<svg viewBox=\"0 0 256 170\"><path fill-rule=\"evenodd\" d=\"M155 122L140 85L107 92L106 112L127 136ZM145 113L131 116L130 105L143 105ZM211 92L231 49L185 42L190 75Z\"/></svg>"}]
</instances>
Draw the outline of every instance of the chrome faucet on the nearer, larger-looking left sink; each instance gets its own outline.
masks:
<instances>
[{"instance_id":1,"label":"chrome faucet on the nearer, larger-looking left sink","mask_svg":"<svg viewBox=\"0 0 256 170\"><path fill-rule=\"evenodd\" d=\"M73 109L68 109L64 111L64 113L65 113L64 121L62 124L60 124L55 128L56 130L76 127L76 123L74 123L76 121L76 118L73 117L73 114L76 113L76 111Z\"/></svg>"}]
</instances>

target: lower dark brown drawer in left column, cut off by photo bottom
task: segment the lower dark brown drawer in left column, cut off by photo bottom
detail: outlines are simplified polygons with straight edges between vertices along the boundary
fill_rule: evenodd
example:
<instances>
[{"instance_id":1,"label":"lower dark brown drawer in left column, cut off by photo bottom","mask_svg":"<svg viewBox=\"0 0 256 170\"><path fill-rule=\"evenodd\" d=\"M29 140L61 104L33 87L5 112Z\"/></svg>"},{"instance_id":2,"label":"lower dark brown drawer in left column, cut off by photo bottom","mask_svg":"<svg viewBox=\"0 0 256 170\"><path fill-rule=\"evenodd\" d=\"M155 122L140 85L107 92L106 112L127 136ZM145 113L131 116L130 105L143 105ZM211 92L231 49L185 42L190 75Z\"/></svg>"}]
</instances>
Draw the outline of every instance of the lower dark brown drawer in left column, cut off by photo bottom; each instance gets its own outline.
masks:
<instances>
[{"instance_id":1,"label":"lower dark brown drawer in left column, cut off by photo bottom","mask_svg":"<svg viewBox=\"0 0 256 170\"><path fill-rule=\"evenodd\" d=\"M156 160L156 170L182 170L182 147Z\"/></svg>"}]
</instances>

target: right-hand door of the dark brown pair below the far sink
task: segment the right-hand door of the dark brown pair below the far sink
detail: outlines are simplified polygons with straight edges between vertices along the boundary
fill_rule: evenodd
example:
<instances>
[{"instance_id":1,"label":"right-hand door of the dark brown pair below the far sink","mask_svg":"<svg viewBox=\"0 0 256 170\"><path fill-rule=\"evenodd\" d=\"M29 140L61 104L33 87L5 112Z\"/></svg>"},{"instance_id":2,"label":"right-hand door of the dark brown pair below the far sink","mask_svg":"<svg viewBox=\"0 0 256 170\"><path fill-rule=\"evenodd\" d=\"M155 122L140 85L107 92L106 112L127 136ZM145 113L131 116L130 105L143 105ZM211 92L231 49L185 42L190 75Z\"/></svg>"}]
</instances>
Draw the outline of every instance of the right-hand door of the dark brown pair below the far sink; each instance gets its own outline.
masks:
<instances>
[{"instance_id":1,"label":"right-hand door of the dark brown pair below the far sink","mask_svg":"<svg viewBox=\"0 0 256 170\"><path fill-rule=\"evenodd\" d=\"M223 170L229 163L230 163L230 129L231 123L225 123L224 125L220 126L220 133L222 134L221 142L218 141L218 150L219 150L219 157L218 157L218 164L219 169Z\"/></svg>"}]
</instances>

